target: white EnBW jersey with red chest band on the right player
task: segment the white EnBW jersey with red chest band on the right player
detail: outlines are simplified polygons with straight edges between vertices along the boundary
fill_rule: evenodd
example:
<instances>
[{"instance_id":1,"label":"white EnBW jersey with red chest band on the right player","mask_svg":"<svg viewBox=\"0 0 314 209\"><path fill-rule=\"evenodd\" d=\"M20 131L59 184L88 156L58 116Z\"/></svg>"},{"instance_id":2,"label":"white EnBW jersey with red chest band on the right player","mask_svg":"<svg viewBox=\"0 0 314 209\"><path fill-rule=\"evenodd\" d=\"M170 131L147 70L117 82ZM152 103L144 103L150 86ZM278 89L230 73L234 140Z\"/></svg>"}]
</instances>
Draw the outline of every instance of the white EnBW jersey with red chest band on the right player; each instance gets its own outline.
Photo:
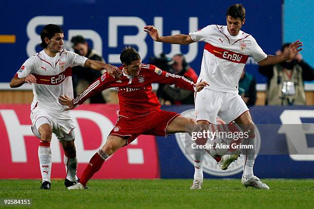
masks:
<instances>
[{"instance_id":1,"label":"white EnBW jersey with red chest band on the right player","mask_svg":"<svg viewBox=\"0 0 314 209\"><path fill-rule=\"evenodd\" d=\"M214 91L238 93L238 83L249 56L261 61L267 57L256 40L240 30L229 34L227 26L209 25L189 33L195 42L204 41L201 73L198 79L207 81Z\"/></svg>"}]
</instances>

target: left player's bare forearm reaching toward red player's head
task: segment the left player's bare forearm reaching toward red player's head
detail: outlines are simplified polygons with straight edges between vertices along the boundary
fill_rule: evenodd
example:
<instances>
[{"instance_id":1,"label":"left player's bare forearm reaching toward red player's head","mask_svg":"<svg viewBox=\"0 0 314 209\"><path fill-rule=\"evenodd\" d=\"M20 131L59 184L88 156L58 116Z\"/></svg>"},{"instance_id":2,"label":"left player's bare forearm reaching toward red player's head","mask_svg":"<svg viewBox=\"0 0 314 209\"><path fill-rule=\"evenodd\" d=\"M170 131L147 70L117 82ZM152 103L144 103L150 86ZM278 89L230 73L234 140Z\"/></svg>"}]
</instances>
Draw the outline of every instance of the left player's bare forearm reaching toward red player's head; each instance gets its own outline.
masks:
<instances>
[{"instance_id":1,"label":"left player's bare forearm reaching toward red player's head","mask_svg":"<svg viewBox=\"0 0 314 209\"><path fill-rule=\"evenodd\" d=\"M102 61L98 61L98 60L87 59L85 61L84 67L90 68L93 70L105 69L108 72L108 74L111 75L112 77L121 78L120 74L122 75L122 71L119 68L112 66L110 64L104 63Z\"/></svg>"}]
</instances>

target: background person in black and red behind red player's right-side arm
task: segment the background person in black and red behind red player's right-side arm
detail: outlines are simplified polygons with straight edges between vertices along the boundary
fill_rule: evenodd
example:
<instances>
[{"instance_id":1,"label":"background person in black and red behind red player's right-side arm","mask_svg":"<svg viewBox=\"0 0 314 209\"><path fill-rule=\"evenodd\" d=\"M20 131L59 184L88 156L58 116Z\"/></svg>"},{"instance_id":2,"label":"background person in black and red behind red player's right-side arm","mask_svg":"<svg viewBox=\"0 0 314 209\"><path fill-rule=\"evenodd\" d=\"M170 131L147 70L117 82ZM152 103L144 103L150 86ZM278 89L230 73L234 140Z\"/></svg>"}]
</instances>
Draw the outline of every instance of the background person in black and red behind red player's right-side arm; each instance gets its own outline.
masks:
<instances>
[{"instance_id":1,"label":"background person in black and red behind red player's right-side arm","mask_svg":"<svg viewBox=\"0 0 314 209\"><path fill-rule=\"evenodd\" d=\"M172 61L167 59L164 54L160 58L154 58L153 60L152 64L162 70L183 76L193 82L198 80L198 75L188 65L183 54L175 54L172 57ZM180 89L174 85L160 85L156 94L162 105L194 104L193 92Z\"/></svg>"}]
</instances>

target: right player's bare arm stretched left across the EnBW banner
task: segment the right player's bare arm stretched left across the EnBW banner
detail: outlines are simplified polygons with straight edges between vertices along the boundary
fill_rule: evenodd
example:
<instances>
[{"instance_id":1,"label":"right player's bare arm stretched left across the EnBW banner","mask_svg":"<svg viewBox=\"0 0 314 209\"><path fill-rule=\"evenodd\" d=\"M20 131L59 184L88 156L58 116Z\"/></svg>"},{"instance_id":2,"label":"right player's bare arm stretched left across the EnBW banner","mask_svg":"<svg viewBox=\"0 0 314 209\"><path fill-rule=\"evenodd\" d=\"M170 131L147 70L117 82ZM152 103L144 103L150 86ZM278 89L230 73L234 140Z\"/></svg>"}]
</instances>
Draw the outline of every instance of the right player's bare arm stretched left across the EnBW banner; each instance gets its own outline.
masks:
<instances>
[{"instance_id":1,"label":"right player's bare arm stretched left across the EnBW banner","mask_svg":"<svg viewBox=\"0 0 314 209\"><path fill-rule=\"evenodd\" d=\"M154 26L145 26L144 31L147 32L154 41L164 42L169 44L187 45L194 43L189 35L176 34L170 36L160 36L158 30Z\"/></svg>"}]
</instances>

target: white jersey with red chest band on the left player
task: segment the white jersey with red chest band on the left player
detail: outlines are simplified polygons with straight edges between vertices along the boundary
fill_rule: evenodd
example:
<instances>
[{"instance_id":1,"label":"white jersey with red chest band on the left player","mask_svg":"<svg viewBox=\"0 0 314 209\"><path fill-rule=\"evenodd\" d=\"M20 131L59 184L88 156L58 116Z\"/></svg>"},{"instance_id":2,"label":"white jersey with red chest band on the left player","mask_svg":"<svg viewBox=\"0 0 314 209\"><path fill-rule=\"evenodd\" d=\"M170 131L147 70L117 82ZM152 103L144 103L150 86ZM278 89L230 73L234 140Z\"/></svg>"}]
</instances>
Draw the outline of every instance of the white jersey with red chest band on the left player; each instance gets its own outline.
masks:
<instances>
[{"instance_id":1,"label":"white jersey with red chest band on the left player","mask_svg":"<svg viewBox=\"0 0 314 209\"><path fill-rule=\"evenodd\" d=\"M32 84L31 110L40 107L50 113L63 113L60 116L68 119L69 111L64 111L67 107L58 102L58 97L65 94L73 98L72 67L84 66L86 60L65 49L55 57L48 56L44 50L29 57L15 76L23 78L33 74L36 78L36 83Z\"/></svg>"}]
</instances>

